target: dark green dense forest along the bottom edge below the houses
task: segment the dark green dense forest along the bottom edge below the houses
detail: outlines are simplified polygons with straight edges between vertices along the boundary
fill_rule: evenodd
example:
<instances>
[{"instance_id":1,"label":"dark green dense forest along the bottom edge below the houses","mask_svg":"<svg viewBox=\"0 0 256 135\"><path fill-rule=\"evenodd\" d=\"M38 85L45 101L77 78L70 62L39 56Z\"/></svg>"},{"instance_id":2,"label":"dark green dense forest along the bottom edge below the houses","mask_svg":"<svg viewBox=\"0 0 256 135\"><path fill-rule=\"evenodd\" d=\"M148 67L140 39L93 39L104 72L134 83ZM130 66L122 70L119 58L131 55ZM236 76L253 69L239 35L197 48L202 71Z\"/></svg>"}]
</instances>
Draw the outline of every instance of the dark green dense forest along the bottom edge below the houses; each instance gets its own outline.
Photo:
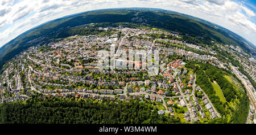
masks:
<instances>
[{"instance_id":1,"label":"dark green dense forest along the bottom edge below the houses","mask_svg":"<svg viewBox=\"0 0 256 135\"><path fill-rule=\"evenodd\" d=\"M90 99L34 97L24 103L3 103L0 112L0 123L181 123L180 119L159 115L151 104L134 100L98 103Z\"/></svg>"}]
</instances>

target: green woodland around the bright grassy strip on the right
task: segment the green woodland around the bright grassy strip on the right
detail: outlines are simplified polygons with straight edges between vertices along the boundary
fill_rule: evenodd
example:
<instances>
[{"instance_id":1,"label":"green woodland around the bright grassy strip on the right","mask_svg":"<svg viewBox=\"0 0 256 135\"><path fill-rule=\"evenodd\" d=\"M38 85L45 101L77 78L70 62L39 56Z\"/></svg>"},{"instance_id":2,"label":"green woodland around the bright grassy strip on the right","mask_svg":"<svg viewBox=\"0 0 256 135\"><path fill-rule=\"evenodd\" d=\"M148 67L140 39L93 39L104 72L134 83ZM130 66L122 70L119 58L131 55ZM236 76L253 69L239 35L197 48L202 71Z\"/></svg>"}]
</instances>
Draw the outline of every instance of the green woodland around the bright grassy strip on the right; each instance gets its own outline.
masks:
<instances>
[{"instance_id":1,"label":"green woodland around the bright grassy strip on the right","mask_svg":"<svg viewBox=\"0 0 256 135\"><path fill-rule=\"evenodd\" d=\"M198 64L199 66L196 66ZM196 83L200 86L201 89L208 95L210 101L213 103L214 107L217 111L221 114L224 118L221 119L221 123L226 123L227 119L225 116L229 114L231 111L232 118L229 123L245 123L247 119L247 115L249 113L249 98L246 96L246 91L243 92L240 90L234 89L232 83L225 79L224 75L229 75L230 72L225 71L224 69L214 67L210 64L205 63L197 63L197 62L189 62L186 64L187 68L192 68L193 71L196 73ZM232 107L227 106L227 102L221 102L220 98L216 96L216 92L213 89L213 86L210 82L216 81L220 86L224 97L226 98L227 102L231 102L234 99L238 99L240 104L236 110ZM240 82L241 84L241 82ZM241 84L242 85L242 84ZM242 85L243 89L244 86Z\"/></svg>"}]
</instances>

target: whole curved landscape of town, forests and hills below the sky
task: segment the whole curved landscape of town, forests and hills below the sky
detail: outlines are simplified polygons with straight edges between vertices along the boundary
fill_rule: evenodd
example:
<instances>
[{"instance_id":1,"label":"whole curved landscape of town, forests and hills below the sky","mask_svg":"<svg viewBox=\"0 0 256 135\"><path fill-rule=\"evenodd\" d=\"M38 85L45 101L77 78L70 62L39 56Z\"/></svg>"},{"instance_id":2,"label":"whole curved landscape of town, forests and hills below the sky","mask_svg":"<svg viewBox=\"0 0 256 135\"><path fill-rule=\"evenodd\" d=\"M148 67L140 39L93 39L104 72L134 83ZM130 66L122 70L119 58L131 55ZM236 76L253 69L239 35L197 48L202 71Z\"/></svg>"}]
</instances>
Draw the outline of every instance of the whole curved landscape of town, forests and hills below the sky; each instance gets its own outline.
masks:
<instances>
[{"instance_id":1,"label":"whole curved landscape of town, forests and hills below the sky","mask_svg":"<svg viewBox=\"0 0 256 135\"><path fill-rule=\"evenodd\" d=\"M177 12L82 12L0 56L0 123L256 123L255 43Z\"/></svg>"}]
</instances>

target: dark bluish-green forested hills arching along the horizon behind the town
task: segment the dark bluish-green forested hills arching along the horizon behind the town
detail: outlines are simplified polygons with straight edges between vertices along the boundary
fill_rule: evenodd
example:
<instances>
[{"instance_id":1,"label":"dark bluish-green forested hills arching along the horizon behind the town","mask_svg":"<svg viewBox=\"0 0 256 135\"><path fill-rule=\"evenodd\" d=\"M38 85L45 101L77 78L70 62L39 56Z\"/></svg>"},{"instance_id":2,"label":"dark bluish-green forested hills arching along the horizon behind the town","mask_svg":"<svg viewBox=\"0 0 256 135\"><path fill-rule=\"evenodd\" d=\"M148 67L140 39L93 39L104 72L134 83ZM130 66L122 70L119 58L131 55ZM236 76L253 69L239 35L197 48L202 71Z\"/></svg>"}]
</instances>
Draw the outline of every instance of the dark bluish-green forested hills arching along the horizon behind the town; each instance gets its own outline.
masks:
<instances>
[{"instance_id":1,"label":"dark bluish-green forested hills arching along the horizon behind the town","mask_svg":"<svg viewBox=\"0 0 256 135\"><path fill-rule=\"evenodd\" d=\"M72 27L90 23L109 23L112 26L113 23L118 22L136 23L179 32L181 35L192 37L193 40L205 45L210 45L210 41L233 44L241 46L247 53L255 55L255 47L250 46L251 43L225 28L219 27L216 29L213 24L207 21L160 9L125 8L82 12L81 14L49 21L24 32L1 47L0 67L2 68L7 60L10 60L24 49L55 41L56 38L59 38L60 33L64 33ZM69 35L66 34L65 36Z\"/></svg>"}]
</instances>

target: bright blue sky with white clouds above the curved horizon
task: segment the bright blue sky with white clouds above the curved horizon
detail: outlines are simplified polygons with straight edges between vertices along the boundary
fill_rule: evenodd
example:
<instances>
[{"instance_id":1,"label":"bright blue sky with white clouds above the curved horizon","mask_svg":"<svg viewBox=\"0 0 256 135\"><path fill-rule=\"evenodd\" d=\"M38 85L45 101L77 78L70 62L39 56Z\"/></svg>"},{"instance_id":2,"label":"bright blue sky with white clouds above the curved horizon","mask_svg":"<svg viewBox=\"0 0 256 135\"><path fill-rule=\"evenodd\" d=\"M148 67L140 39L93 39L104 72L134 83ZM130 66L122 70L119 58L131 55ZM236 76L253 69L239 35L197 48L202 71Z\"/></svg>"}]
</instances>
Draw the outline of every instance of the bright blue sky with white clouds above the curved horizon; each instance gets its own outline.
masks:
<instances>
[{"instance_id":1,"label":"bright blue sky with white clouds above the curved horizon","mask_svg":"<svg viewBox=\"0 0 256 135\"><path fill-rule=\"evenodd\" d=\"M228 28L256 46L255 0L0 0L0 47L46 21L117 7L172 10Z\"/></svg>"}]
</instances>

